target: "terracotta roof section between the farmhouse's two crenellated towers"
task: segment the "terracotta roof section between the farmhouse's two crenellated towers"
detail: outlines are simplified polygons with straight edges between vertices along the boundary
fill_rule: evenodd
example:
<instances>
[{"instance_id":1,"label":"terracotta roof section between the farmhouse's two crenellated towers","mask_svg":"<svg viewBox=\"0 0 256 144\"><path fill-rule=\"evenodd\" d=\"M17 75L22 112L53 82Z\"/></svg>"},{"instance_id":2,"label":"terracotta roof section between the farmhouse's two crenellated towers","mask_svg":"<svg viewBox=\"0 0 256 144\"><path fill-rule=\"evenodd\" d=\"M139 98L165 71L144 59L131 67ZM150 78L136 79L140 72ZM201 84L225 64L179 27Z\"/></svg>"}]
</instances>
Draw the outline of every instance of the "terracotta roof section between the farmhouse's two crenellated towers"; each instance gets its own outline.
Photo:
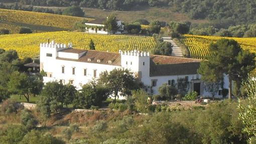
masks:
<instances>
[{"instance_id":1,"label":"terracotta roof section between the farmhouse's two crenellated towers","mask_svg":"<svg viewBox=\"0 0 256 144\"><path fill-rule=\"evenodd\" d=\"M59 58L59 57L57 57L57 59L121 66L121 56L119 53L102 52L102 51L95 51L95 50L84 50L84 51L86 52L78 60ZM88 59L90 59L91 61L88 61ZM97 60L100 60L100 62L97 62ZM111 63L108 63L108 61L111 61Z\"/></svg>"}]
</instances>

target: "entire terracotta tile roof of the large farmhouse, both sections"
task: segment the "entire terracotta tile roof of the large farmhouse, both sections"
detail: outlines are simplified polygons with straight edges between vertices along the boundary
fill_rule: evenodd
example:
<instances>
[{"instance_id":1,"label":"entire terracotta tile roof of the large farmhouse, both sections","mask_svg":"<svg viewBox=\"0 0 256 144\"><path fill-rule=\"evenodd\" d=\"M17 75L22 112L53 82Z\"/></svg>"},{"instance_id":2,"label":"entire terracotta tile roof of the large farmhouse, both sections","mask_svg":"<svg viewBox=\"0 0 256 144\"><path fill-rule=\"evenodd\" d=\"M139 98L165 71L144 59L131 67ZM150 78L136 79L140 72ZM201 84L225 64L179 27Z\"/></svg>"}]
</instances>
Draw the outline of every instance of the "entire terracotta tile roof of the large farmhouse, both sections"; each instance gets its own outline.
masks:
<instances>
[{"instance_id":1,"label":"entire terracotta tile roof of the large farmhouse, both sections","mask_svg":"<svg viewBox=\"0 0 256 144\"><path fill-rule=\"evenodd\" d=\"M61 52L63 51L71 53L85 53L78 60L59 57L57 57L57 59L121 66L121 55L119 53L78 49L65 49ZM88 59L91 61L88 61ZM100 60L100 62L97 62L97 60ZM108 63L108 61L111 61L111 63ZM151 55L150 76L197 74L197 69L199 68L200 62L201 60L198 59Z\"/></svg>"}]
</instances>

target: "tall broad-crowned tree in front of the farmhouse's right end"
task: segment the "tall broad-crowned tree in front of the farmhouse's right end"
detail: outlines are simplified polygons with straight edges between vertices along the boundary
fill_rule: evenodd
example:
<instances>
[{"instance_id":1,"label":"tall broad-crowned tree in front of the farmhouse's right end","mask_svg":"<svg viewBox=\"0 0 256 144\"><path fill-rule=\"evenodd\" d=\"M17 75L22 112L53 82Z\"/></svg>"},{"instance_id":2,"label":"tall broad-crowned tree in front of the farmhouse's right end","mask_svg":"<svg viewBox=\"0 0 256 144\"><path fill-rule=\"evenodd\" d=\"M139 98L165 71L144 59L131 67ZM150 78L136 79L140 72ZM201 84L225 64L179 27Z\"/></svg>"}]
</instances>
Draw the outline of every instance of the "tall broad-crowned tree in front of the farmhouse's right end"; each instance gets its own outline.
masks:
<instances>
[{"instance_id":1,"label":"tall broad-crowned tree in front of the farmhouse's right end","mask_svg":"<svg viewBox=\"0 0 256 144\"><path fill-rule=\"evenodd\" d=\"M223 73L229 78L229 98L232 93L232 81L236 81L237 89L246 80L247 73L255 68L255 54L241 49L235 40L220 39L209 46L210 56L200 64L198 72L207 82L219 82Z\"/></svg>"}]
</instances>

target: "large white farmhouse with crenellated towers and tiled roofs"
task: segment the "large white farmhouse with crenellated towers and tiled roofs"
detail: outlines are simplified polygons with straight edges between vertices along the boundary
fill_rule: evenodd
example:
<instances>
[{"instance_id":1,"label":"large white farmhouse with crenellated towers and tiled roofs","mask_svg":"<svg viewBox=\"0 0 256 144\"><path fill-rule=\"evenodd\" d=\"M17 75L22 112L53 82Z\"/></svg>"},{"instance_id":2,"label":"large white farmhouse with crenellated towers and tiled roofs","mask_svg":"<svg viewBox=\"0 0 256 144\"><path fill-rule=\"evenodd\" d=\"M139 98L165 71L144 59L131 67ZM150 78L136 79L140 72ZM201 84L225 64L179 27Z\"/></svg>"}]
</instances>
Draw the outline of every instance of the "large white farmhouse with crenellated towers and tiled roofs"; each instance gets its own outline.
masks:
<instances>
[{"instance_id":1,"label":"large white farmhouse with crenellated towers and tiled roofs","mask_svg":"<svg viewBox=\"0 0 256 144\"><path fill-rule=\"evenodd\" d=\"M167 83L175 85L179 80L187 81L188 91L211 96L197 73L201 60L171 56L150 55L149 52L129 51L119 53L73 49L72 44L40 44L40 69L47 73L44 82L71 83L80 89L83 84L98 78L103 71L114 68L130 69L153 94ZM224 77L224 88L228 88ZM221 89L216 94L221 96Z\"/></svg>"}]
</instances>

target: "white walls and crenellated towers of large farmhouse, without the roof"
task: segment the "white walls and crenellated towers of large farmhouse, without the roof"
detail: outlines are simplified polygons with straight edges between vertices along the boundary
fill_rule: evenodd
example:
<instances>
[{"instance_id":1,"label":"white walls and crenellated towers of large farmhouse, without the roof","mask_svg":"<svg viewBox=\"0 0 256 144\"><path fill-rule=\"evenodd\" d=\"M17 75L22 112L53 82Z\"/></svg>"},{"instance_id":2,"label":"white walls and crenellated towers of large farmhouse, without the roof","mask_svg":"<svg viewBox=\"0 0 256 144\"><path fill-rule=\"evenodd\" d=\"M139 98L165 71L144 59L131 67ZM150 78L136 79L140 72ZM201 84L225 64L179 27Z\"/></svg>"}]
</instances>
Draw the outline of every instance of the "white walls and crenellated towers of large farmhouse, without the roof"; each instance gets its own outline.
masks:
<instances>
[{"instance_id":1,"label":"white walls and crenellated towers of large farmhouse, without the roof","mask_svg":"<svg viewBox=\"0 0 256 144\"><path fill-rule=\"evenodd\" d=\"M127 68L135 73L135 76L141 78L144 85L149 87L152 86L152 80L157 81L156 86L153 86L153 94L158 94L158 88L164 83L168 83L168 80L175 80L177 83L178 78L188 77L189 89L188 91L193 91L193 81L195 83L200 82L200 92L202 96L211 96L204 88L204 83L200 80L199 74L191 75L173 75L173 76L152 76L150 77L150 54L139 51L131 52L119 52L121 55L121 66L113 66L107 64L97 64L89 62L77 62L68 60L59 60L56 57L78 59L82 53L73 54L66 52L58 52L60 50L66 49L64 45L58 46L53 44L41 44L40 45L40 68L47 72L47 77L44 77L44 82L49 81L60 81L69 83L73 80L73 85L78 89L81 88L83 84L88 83L94 78L94 70L96 70L96 78L103 71L111 71L114 68ZM68 46L71 47L71 46ZM52 57L46 56L46 54L52 54ZM83 52L84 53L84 52ZM62 73L62 67L64 67L64 73ZM72 74L72 70L75 68L75 74ZM84 76L84 69L86 69L86 76ZM137 75L136 75L137 74ZM228 77L224 77L224 88L228 88ZM218 93L216 96L219 96Z\"/></svg>"}]
</instances>

